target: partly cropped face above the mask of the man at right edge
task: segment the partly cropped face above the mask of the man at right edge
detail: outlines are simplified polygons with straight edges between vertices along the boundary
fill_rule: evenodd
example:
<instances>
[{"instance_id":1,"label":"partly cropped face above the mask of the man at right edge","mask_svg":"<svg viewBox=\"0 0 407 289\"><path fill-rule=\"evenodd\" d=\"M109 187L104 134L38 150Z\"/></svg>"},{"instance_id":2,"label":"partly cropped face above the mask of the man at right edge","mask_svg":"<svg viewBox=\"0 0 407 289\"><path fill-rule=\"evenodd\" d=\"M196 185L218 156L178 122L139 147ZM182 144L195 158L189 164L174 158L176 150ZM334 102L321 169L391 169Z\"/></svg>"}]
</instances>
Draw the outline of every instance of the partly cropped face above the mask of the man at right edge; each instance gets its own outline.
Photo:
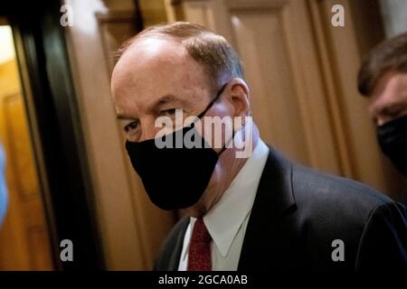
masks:
<instances>
[{"instance_id":1,"label":"partly cropped face above the mask of the man at right edge","mask_svg":"<svg viewBox=\"0 0 407 289\"><path fill-rule=\"evenodd\" d=\"M385 73L369 99L369 114L376 126L407 115L407 74Z\"/></svg>"}]
</instances>

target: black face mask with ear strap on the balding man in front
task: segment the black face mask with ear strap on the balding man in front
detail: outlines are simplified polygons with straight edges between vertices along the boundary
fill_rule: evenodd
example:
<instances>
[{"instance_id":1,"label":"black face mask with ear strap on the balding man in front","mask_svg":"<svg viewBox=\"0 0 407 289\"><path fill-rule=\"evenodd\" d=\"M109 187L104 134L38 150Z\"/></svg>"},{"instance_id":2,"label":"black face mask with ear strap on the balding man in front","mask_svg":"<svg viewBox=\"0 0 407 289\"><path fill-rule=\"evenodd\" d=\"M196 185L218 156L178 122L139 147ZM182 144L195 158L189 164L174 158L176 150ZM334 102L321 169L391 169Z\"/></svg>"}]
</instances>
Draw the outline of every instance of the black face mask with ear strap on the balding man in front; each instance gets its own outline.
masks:
<instances>
[{"instance_id":1,"label":"black face mask with ear strap on the balding man in front","mask_svg":"<svg viewBox=\"0 0 407 289\"><path fill-rule=\"evenodd\" d=\"M204 117L225 87L226 84L198 118ZM173 148L158 148L155 139L126 142L131 164L140 176L148 197L163 210L184 209L194 205L204 194L219 155L226 147L225 144L217 154L197 131L191 132L194 129L193 123L170 135L164 135L162 141L166 143L166 137L170 137ZM198 135L200 139L194 140L194 144L199 142L201 148L186 148L184 145L175 148L176 137L184 139L186 133Z\"/></svg>"}]
</instances>

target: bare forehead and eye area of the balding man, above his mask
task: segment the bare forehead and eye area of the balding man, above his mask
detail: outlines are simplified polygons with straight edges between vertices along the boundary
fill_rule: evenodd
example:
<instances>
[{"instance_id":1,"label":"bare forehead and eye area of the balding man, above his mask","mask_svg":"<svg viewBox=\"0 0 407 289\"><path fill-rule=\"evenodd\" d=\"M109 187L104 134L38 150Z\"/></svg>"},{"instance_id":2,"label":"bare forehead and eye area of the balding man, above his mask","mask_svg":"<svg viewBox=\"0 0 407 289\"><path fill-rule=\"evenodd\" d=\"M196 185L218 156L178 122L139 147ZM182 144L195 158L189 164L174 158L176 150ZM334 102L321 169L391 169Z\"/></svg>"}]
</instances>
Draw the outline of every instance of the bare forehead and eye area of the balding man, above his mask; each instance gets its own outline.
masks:
<instances>
[{"instance_id":1,"label":"bare forehead and eye area of the balding man, above his mask","mask_svg":"<svg viewBox=\"0 0 407 289\"><path fill-rule=\"evenodd\" d=\"M146 38L133 43L112 74L111 89L120 124L128 141L156 137L157 117L184 117L201 113L214 97L201 64L194 61L180 42ZM224 107L223 107L224 108ZM227 109L226 109L227 110ZM213 106L211 114L227 114Z\"/></svg>"}]
</instances>

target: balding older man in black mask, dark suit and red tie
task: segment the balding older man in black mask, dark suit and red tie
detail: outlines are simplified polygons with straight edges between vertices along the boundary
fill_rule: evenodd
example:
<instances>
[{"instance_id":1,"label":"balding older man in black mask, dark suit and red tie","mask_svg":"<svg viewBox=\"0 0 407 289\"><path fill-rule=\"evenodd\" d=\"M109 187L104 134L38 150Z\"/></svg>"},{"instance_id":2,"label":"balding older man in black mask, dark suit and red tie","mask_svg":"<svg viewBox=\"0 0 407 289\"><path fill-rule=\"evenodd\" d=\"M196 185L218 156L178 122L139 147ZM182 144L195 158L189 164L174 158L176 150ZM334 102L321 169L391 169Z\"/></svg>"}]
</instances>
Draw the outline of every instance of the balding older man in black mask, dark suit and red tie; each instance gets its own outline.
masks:
<instances>
[{"instance_id":1,"label":"balding older man in black mask, dark suit and red tie","mask_svg":"<svg viewBox=\"0 0 407 289\"><path fill-rule=\"evenodd\" d=\"M157 25L121 52L111 89L128 156L150 200L186 214L157 270L406 267L405 208L264 144L239 58L222 36L192 23ZM176 125L180 111L196 117ZM163 117L175 120L164 134ZM227 126L201 126L204 117L242 120L226 134ZM202 145L162 145L190 135ZM252 153L237 157L243 140Z\"/></svg>"}]
</instances>

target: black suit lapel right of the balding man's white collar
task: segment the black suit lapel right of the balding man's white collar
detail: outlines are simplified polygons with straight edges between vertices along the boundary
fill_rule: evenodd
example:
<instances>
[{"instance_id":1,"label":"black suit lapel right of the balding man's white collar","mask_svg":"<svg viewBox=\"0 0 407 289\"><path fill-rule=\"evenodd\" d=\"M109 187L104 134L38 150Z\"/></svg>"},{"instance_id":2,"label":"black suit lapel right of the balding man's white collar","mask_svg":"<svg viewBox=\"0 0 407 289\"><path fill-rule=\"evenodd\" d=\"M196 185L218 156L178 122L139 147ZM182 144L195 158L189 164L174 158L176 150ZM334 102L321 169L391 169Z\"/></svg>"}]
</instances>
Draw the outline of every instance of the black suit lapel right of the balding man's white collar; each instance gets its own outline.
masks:
<instances>
[{"instance_id":1,"label":"black suit lapel right of the balding man's white collar","mask_svg":"<svg viewBox=\"0 0 407 289\"><path fill-rule=\"evenodd\" d=\"M289 208L295 209L291 186L292 163L270 148L246 228L239 270L267 270L284 264L289 243L284 226Z\"/></svg>"}]
</instances>

